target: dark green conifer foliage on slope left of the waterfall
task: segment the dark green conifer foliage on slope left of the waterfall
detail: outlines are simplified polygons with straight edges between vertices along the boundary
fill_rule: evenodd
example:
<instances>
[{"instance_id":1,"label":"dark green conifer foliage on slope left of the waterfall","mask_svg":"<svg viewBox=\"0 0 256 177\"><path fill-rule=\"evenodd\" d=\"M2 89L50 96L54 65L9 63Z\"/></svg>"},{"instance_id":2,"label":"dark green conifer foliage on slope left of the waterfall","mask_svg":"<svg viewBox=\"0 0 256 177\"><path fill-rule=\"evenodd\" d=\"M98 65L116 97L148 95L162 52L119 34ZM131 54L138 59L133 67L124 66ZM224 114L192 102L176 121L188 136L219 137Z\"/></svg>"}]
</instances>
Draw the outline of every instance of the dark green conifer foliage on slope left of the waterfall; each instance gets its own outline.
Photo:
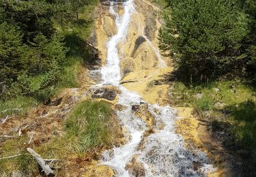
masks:
<instances>
[{"instance_id":1,"label":"dark green conifer foliage on slope left of the waterfall","mask_svg":"<svg viewBox=\"0 0 256 177\"><path fill-rule=\"evenodd\" d=\"M97 3L0 1L0 99L22 96L44 101L61 86L77 86L74 73L83 60L93 60L85 39ZM66 22L60 22L62 17Z\"/></svg>"}]
</instances>

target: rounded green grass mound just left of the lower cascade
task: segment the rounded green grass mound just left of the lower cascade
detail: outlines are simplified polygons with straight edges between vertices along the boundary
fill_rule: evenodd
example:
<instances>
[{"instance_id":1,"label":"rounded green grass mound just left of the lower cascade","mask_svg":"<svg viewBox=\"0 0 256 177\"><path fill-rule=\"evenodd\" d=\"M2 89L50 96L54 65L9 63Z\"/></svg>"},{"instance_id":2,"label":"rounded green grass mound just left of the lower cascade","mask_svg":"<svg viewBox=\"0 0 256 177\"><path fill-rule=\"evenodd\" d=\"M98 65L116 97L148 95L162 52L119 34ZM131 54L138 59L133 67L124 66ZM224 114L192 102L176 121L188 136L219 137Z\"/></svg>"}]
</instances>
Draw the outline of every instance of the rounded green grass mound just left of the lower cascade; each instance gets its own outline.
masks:
<instances>
[{"instance_id":1,"label":"rounded green grass mound just left of the lower cascade","mask_svg":"<svg viewBox=\"0 0 256 177\"><path fill-rule=\"evenodd\" d=\"M103 101L84 101L67 118L66 135L83 152L111 144L111 108Z\"/></svg>"}]
</instances>

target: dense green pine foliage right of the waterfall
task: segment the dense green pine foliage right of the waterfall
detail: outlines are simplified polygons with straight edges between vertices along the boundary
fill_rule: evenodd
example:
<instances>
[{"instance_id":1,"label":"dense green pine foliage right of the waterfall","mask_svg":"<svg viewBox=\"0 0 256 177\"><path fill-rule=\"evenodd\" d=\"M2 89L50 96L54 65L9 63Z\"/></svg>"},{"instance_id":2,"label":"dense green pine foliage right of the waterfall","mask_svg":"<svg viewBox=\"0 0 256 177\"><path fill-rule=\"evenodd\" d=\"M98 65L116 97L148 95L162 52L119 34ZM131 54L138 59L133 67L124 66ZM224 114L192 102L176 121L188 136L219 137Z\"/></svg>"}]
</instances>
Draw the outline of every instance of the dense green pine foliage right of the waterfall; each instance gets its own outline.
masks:
<instances>
[{"instance_id":1,"label":"dense green pine foliage right of the waterfall","mask_svg":"<svg viewBox=\"0 0 256 177\"><path fill-rule=\"evenodd\" d=\"M242 42L249 33L249 20L236 1L168 1L160 32L160 48L173 55L186 78L210 78L241 73Z\"/></svg>"}]
</instances>

